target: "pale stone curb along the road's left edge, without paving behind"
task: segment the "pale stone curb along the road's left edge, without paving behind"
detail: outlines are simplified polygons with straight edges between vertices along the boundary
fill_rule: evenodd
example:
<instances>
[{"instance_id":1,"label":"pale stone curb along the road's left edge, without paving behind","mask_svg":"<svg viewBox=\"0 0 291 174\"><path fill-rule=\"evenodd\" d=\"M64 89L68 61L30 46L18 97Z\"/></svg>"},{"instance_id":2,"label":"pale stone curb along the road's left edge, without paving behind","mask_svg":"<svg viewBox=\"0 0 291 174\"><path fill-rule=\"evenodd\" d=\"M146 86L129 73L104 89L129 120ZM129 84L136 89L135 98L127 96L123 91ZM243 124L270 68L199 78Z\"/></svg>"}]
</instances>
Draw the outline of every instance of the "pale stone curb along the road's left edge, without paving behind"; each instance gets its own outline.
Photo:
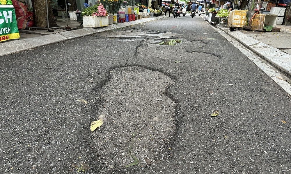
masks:
<instances>
[{"instance_id":1,"label":"pale stone curb along the road's left edge, without paving behind","mask_svg":"<svg viewBox=\"0 0 291 174\"><path fill-rule=\"evenodd\" d=\"M2 50L2 52L0 53L0 56L61 42L68 39L74 39L78 37L93 35L99 32L115 30L118 28L124 28L127 26L136 25L139 23L162 19L164 17L166 16L162 15L158 17L139 19L136 21L130 21L130 22L125 22L125 23L111 24L109 26L102 27L102 28L81 28L79 30L65 31L65 32L59 32L59 33L50 34L50 35L42 35L38 37L27 38L23 40L9 41L9 42L0 44L0 49Z\"/></svg>"}]
</instances>

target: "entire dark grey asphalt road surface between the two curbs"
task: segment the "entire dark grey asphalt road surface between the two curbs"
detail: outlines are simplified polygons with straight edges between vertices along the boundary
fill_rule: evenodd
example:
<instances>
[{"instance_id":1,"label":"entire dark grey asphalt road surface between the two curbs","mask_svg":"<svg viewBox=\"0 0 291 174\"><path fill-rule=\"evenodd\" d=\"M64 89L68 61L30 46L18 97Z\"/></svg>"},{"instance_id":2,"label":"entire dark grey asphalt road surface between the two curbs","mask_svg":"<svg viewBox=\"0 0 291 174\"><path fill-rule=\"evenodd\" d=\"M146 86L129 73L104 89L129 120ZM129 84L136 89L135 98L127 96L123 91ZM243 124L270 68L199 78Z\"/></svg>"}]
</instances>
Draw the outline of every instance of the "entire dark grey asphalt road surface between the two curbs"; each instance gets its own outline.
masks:
<instances>
[{"instance_id":1,"label":"entire dark grey asphalt road surface between the two curbs","mask_svg":"<svg viewBox=\"0 0 291 174\"><path fill-rule=\"evenodd\" d=\"M0 83L3 174L291 173L290 98L199 16L0 57Z\"/></svg>"}]
</instances>

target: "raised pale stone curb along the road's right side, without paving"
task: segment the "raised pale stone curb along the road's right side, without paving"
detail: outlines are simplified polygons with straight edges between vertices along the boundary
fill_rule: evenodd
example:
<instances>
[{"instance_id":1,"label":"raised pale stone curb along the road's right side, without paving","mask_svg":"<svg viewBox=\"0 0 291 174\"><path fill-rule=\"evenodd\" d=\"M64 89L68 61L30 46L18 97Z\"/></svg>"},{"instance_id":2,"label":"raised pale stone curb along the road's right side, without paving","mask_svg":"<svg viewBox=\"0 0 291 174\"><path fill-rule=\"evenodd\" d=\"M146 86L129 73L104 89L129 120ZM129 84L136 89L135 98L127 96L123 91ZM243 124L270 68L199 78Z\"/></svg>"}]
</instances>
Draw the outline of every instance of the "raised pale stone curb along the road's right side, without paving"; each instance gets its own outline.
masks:
<instances>
[{"instance_id":1,"label":"raised pale stone curb along the road's right side, without paving","mask_svg":"<svg viewBox=\"0 0 291 174\"><path fill-rule=\"evenodd\" d=\"M219 27L217 27L219 28ZM219 28L221 29L221 28ZM264 58L284 73L291 76L291 55L269 46L263 42L260 42L253 37L246 35L240 31L226 31L221 29L226 34L239 41L241 44Z\"/></svg>"}]
</instances>

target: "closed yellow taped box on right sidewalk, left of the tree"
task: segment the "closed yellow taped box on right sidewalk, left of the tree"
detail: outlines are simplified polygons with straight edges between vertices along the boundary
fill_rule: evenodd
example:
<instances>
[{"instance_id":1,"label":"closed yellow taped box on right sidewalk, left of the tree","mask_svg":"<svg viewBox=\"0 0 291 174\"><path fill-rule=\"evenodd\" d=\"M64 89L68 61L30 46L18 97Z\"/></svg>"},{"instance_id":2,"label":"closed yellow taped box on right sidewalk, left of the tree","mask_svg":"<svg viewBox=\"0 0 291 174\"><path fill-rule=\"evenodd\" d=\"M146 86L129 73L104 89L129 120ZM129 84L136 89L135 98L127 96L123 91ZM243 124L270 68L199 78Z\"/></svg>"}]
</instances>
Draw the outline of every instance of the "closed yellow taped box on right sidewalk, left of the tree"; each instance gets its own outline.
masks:
<instances>
[{"instance_id":1,"label":"closed yellow taped box on right sidewalk, left of the tree","mask_svg":"<svg viewBox=\"0 0 291 174\"><path fill-rule=\"evenodd\" d=\"M227 26L232 28L241 28L246 24L246 13L249 10L232 10L228 15Z\"/></svg>"}]
</instances>

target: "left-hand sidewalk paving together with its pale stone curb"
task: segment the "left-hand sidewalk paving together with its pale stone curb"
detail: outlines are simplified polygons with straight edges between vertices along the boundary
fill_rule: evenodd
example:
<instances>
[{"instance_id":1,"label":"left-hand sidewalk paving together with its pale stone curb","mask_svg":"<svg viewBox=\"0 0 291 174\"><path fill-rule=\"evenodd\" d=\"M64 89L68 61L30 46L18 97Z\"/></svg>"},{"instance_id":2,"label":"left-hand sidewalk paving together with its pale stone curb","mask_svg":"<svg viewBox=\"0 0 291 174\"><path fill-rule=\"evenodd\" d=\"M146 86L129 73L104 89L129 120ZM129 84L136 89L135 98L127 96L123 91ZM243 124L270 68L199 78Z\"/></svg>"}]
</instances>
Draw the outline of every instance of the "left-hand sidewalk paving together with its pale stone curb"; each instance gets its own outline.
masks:
<instances>
[{"instance_id":1,"label":"left-hand sidewalk paving together with its pale stone curb","mask_svg":"<svg viewBox=\"0 0 291 174\"><path fill-rule=\"evenodd\" d=\"M98 32L104 32L109 30L115 30L117 28L124 28L127 26L136 25L143 22L153 21L156 19L164 18L165 16L143 18L136 21L130 21L125 23L111 24L106 27L100 28L81 28L77 30L67 31L65 29L55 29L54 32L48 32L47 30L19 30L20 39L8 40L0 43L0 49L2 52L0 56L12 54L19 51L24 51L28 49L33 49L39 46L44 46L48 44L53 44L68 39L74 39L77 37L92 35ZM81 22L68 20L68 25L71 28L80 26ZM66 25L66 22L57 21L59 26Z\"/></svg>"}]
</instances>

